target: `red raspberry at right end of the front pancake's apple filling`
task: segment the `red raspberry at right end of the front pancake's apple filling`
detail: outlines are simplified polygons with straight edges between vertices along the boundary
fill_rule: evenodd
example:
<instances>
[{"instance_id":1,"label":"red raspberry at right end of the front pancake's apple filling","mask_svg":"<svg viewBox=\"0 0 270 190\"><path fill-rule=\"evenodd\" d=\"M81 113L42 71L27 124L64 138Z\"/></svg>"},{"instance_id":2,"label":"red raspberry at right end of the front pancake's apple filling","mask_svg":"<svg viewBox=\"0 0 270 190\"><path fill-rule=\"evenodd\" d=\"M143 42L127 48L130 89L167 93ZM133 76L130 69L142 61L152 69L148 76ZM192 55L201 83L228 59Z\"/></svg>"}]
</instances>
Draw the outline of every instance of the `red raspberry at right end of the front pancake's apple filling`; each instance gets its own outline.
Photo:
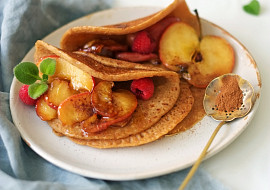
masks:
<instances>
[{"instance_id":1,"label":"red raspberry at right end of the front pancake's apple filling","mask_svg":"<svg viewBox=\"0 0 270 190\"><path fill-rule=\"evenodd\" d=\"M137 98L148 100L154 94L153 80L151 78L133 80L130 90L136 95Z\"/></svg>"}]
</instances>

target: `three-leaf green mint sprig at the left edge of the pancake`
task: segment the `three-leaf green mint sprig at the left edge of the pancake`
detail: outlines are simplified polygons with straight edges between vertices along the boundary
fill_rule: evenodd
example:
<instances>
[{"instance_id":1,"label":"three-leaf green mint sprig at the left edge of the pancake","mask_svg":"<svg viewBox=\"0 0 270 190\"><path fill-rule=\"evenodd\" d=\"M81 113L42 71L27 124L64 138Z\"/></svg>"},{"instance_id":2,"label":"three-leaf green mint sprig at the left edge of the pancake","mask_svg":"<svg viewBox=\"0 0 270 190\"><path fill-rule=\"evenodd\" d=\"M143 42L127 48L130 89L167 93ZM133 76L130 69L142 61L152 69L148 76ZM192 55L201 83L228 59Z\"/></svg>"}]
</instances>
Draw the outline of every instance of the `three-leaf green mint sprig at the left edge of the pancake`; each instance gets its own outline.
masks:
<instances>
[{"instance_id":1,"label":"three-leaf green mint sprig at the left edge of the pancake","mask_svg":"<svg viewBox=\"0 0 270 190\"><path fill-rule=\"evenodd\" d=\"M37 99L48 89L48 78L54 75L56 60L46 58L42 60L39 68L32 62L21 62L13 69L15 77L23 84L29 85L28 94L31 98ZM39 71L42 77L39 76Z\"/></svg>"}]
</instances>

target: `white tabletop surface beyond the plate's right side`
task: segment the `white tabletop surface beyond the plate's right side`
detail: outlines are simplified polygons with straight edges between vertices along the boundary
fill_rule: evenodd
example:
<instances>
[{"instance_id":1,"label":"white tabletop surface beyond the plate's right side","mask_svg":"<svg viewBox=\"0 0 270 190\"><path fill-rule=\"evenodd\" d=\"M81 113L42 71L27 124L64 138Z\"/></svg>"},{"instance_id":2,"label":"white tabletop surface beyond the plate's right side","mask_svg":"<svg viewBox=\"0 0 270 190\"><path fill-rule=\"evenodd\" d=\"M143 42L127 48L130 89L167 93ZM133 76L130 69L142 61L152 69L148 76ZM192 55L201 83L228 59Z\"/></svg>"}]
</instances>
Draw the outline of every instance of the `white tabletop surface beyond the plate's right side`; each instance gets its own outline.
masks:
<instances>
[{"instance_id":1,"label":"white tabletop surface beyond the plate's right side","mask_svg":"<svg viewBox=\"0 0 270 190\"><path fill-rule=\"evenodd\" d=\"M261 13L253 16L242 6L250 0L186 0L191 10L230 32L251 52L262 78L258 111L248 128L202 167L235 190L270 189L270 1L259 0ZM114 7L162 6L167 1L115 0Z\"/></svg>"}]
</instances>

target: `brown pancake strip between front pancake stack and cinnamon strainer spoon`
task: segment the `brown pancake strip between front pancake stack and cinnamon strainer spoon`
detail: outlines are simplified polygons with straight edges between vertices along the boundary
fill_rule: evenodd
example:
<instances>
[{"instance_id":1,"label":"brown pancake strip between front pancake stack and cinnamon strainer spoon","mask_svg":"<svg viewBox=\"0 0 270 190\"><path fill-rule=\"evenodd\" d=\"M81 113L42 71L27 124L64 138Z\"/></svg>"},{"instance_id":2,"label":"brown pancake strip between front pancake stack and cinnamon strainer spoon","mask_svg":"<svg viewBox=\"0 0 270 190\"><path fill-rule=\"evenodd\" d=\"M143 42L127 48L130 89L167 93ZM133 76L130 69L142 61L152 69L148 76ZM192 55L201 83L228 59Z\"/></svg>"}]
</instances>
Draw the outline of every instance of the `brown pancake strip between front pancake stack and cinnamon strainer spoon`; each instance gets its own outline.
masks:
<instances>
[{"instance_id":1,"label":"brown pancake strip between front pancake stack and cinnamon strainer spoon","mask_svg":"<svg viewBox=\"0 0 270 190\"><path fill-rule=\"evenodd\" d=\"M185 119L180 122L172 131L170 131L167 135L175 135L181 132L184 132L190 128L192 128L196 123L201 121L206 115L203 108L203 98L205 89L190 87L192 95L194 97L194 104L189 112L189 114L185 117Z\"/></svg>"}]
</instances>

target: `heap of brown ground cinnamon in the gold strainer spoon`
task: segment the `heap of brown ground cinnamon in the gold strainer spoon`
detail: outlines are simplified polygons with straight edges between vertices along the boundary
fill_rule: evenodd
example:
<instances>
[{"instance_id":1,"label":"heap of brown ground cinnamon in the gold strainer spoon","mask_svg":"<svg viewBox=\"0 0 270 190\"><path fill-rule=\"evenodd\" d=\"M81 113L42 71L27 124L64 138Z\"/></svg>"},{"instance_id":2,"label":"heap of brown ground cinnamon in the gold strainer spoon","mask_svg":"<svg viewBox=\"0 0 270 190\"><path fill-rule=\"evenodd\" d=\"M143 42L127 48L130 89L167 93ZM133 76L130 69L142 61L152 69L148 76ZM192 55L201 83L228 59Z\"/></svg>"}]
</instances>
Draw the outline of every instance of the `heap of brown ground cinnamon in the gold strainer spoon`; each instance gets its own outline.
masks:
<instances>
[{"instance_id":1,"label":"heap of brown ground cinnamon in the gold strainer spoon","mask_svg":"<svg viewBox=\"0 0 270 190\"><path fill-rule=\"evenodd\" d=\"M243 92L240 89L235 76L225 76L222 78L220 93L216 98L216 108L218 111L232 112L243 104Z\"/></svg>"}]
</instances>

